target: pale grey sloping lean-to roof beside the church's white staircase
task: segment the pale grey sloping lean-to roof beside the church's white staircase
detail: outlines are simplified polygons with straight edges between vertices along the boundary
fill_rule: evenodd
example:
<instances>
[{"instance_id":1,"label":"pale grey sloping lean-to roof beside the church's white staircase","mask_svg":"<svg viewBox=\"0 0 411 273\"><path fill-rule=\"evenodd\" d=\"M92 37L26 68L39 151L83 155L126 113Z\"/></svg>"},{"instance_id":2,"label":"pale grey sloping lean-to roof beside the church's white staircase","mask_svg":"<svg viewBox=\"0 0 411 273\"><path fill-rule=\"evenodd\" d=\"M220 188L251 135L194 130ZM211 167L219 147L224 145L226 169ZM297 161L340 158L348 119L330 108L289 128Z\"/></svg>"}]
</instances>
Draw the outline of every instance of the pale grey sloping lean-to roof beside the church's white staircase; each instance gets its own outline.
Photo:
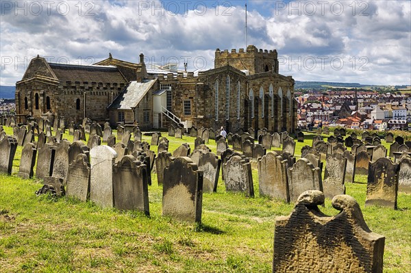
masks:
<instances>
[{"instance_id":1,"label":"pale grey sloping lean-to roof beside the church's white staircase","mask_svg":"<svg viewBox=\"0 0 411 273\"><path fill-rule=\"evenodd\" d=\"M157 79L145 80L143 82L130 81L121 94L108 106L108 109L131 110L137 107L142 98L151 90Z\"/></svg>"}]
</instances>

